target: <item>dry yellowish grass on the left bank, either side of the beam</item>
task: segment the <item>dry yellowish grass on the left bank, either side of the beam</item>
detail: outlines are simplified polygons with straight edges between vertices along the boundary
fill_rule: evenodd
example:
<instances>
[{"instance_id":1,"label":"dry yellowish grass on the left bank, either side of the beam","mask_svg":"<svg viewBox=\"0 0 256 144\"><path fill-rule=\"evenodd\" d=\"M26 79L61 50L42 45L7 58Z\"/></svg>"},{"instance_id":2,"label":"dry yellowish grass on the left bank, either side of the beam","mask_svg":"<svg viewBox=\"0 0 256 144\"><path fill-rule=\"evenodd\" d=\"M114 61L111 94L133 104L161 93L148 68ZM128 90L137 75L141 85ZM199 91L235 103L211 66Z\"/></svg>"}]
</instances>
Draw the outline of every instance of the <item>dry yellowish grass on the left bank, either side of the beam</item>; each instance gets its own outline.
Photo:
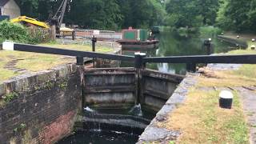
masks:
<instances>
[{"instance_id":1,"label":"dry yellowish grass on the left bank, either side of the beam","mask_svg":"<svg viewBox=\"0 0 256 144\"><path fill-rule=\"evenodd\" d=\"M90 46L82 45L60 45L57 43L45 43L40 44L40 46L50 46L70 50L91 51ZM111 50L111 48L103 46L97 46L96 48L96 51L100 53L108 53ZM20 69L26 69L30 72L48 70L50 68L53 68L54 66L75 62L74 58L67 58L61 55L0 50L0 82L18 75L18 73L14 73L14 71L7 70L6 68L4 68L7 62L10 62L14 59L22 59L21 61L18 61L15 67Z\"/></svg>"}]
</instances>

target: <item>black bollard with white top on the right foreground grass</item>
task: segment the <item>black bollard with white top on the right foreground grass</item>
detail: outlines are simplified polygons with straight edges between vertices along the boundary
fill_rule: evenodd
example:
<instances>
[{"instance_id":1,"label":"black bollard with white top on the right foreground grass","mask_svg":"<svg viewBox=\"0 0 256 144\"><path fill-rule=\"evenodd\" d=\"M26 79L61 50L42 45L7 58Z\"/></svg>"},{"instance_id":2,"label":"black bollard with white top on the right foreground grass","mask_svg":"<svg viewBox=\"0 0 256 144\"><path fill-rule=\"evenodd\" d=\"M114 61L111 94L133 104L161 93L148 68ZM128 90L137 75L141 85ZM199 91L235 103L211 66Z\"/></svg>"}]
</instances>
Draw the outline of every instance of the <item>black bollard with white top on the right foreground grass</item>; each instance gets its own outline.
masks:
<instances>
[{"instance_id":1,"label":"black bollard with white top on the right foreground grass","mask_svg":"<svg viewBox=\"0 0 256 144\"><path fill-rule=\"evenodd\" d=\"M223 109L231 109L234 95L228 90L222 90L219 94L219 106Z\"/></svg>"}]
</instances>

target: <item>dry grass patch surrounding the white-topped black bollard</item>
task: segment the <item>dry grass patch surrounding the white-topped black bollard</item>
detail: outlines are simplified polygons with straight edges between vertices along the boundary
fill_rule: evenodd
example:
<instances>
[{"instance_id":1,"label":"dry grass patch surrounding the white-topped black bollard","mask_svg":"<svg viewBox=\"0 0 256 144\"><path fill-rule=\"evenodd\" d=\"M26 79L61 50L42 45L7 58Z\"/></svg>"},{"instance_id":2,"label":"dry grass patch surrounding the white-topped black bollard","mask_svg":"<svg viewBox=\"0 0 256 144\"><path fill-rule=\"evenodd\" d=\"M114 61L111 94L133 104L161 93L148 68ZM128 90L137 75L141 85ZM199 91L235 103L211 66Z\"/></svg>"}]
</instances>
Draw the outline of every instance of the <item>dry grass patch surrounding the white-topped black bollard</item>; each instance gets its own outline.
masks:
<instances>
[{"instance_id":1,"label":"dry grass patch surrounding the white-topped black bollard","mask_svg":"<svg viewBox=\"0 0 256 144\"><path fill-rule=\"evenodd\" d=\"M190 89L186 102L160 126L181 131L177 143L248 143L248 128L234 91L232 110L218 106L218 91Z\"/></svg>"}]
</instances>

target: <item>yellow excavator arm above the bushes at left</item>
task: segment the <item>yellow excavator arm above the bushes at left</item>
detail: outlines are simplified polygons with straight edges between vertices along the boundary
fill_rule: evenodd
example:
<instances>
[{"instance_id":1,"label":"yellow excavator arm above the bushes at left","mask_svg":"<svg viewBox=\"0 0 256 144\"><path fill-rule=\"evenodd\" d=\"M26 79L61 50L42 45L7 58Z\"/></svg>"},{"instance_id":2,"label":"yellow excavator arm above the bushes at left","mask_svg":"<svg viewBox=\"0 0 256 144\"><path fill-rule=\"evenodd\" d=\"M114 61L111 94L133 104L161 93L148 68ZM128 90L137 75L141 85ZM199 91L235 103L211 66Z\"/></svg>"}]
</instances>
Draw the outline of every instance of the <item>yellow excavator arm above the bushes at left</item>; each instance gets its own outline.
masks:
<instances>
[{"instance_id":1,"label":"yellow excavator arm above the bushes at left","mask_svg":"<svg viewBox=\"0 0 256 144\"><path fill-rule=\"evenodd\" d=\"M46 24L46 22L40 22L34 18L29 18L26 16L20 16L18 18L11 19L10 22L28 22L36 26L41 26L43 28L49 29L50 26Z\"/></svg>"}]
</instances>

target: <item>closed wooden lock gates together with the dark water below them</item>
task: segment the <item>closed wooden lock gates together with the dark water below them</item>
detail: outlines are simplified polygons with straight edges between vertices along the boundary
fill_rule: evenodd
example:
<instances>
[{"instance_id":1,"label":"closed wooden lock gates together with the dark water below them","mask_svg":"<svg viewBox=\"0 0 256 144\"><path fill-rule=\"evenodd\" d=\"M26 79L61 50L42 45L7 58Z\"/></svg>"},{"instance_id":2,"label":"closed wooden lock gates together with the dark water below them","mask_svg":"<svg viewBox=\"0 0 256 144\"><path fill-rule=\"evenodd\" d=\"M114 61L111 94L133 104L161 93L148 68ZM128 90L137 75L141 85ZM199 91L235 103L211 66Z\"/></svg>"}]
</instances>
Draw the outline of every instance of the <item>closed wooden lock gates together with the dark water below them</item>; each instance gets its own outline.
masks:
<instances>
[{"instance_id":1,"label":"closed wooden lock gates together with the dark water below them","mask_svg":"<svg viewBox=\"0 0 256 144\"><path fill-rule=\"evenodd\" d=\"M82 113L58 143L136 143L184 78L156 70L83 70ZM127 139L128 138L128 139Z\"/></svg>"}]
</instances>

